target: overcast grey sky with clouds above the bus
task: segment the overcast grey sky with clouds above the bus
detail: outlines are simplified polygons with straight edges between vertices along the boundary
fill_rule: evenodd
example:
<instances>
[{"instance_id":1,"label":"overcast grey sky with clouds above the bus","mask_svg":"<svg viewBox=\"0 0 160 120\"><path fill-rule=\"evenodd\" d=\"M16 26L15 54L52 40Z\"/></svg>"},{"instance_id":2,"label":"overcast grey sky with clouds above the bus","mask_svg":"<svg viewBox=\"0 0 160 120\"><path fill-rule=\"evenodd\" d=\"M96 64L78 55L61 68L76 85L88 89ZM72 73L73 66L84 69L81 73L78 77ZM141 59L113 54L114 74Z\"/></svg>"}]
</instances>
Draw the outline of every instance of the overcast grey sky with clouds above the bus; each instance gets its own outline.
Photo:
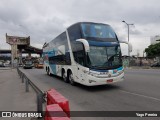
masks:
<instances>
[{"instance_id":1,"label":"overcast grey sky with clouds above the bus","mask_svg":"<svg viewBox=\"0 0 160 120\"><path fill-rule=\"evenodd\" d=\"M5 34L30 36L31 45L42 48L76 22L112 26L119 40L129 41L131 55L143 55L150 37L160 35L160 0L0 0L0 49L11 49ZM121 44L122 54L128 46Z\"/></svg>"}]
</instances>

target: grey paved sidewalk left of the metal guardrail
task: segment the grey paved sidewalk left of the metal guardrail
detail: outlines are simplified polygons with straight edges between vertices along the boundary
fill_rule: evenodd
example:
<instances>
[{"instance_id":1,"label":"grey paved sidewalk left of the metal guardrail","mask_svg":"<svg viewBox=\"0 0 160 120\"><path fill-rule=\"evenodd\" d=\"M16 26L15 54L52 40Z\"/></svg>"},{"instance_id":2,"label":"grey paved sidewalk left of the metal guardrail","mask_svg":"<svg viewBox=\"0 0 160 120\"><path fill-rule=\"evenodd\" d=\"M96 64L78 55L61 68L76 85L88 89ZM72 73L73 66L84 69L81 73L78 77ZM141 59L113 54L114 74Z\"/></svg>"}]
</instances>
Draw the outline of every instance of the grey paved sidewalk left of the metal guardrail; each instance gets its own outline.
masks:
<instances>
[{"instance_id":1,"label":"grey paved sidewalk left of the metal guardrail","mask_svg":"<svg viewBox=\"0 0 160 120\"><path fill-rule=\"evenodd\" d=\"M0 69L0 111L36 111L36 93L25 92L16 69ZM30 120L31 118L0 118L1 120Z\"/></svg>"}]
</instances>

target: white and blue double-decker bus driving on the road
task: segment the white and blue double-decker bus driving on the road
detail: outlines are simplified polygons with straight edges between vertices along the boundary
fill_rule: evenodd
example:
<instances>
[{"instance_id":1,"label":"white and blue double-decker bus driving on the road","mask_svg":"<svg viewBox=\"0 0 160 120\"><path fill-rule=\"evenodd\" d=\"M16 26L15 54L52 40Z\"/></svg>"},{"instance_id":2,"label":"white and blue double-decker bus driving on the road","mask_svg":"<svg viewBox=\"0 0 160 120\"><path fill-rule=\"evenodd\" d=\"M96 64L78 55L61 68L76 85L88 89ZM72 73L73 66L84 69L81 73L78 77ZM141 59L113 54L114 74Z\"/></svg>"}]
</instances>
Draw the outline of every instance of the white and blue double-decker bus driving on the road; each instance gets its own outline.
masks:
<instances>
[{"instance_id":1,"label":"white and blue double-decker bus driving on the road","mask_svg":"<svg viewBox=\"0 0 160 120\"><path fill-rule=\"evenodd\" d=\"M86 86L124 80L120 41L102 23L79 22L43 46L44 69L65 82Z\"/></svg>"}]
</instances>

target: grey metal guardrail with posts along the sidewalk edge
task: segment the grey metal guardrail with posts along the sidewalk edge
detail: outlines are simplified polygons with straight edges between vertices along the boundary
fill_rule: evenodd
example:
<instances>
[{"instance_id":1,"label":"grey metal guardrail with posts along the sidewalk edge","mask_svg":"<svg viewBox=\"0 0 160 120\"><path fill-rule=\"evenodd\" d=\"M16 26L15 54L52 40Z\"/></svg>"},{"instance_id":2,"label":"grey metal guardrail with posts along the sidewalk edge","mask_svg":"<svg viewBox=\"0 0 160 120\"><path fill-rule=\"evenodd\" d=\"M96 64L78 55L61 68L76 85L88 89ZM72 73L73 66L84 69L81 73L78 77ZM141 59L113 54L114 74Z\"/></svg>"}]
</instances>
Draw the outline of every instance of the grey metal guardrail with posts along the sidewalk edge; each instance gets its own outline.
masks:
<instances>
[{"instance_id":1,"label":"grey metal guardrail with posts along the sidewalk edge","mask_svg":"<svg viewBox=\"0 0 160 120\"><path fill-rule=\"evenodd\" d=\"M25 91L29 92L29 85L37 93L37 112L43 115L43 103L46 102L45 96L46 93L42 92L20 69L17 67L17 72L22 79L22 83L25 82Z\"/></svg>"}]
</instances>

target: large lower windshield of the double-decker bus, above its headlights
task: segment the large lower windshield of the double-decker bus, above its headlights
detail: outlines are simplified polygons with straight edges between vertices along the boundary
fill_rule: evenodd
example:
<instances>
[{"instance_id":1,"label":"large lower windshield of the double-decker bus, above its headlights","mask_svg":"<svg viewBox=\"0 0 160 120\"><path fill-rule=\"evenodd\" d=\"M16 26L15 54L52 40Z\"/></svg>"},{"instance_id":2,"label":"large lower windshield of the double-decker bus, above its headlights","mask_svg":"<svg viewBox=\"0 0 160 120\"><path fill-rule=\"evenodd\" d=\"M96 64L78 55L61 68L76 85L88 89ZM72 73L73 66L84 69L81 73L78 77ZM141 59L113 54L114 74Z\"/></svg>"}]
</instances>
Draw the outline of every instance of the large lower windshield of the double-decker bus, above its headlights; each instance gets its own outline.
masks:
<instances>
[{"instance_id":1,"label":"large lower windshield of the double-decker bus, above its headlights","mask_svg":"<svg viewBox=\"0 0 160 120\"><path fill-rule=\"evenodd\" d=\"M122 66L120 46L90 46L88 66L95 69L111 69Z\"/></svg>"}]
</instances>

